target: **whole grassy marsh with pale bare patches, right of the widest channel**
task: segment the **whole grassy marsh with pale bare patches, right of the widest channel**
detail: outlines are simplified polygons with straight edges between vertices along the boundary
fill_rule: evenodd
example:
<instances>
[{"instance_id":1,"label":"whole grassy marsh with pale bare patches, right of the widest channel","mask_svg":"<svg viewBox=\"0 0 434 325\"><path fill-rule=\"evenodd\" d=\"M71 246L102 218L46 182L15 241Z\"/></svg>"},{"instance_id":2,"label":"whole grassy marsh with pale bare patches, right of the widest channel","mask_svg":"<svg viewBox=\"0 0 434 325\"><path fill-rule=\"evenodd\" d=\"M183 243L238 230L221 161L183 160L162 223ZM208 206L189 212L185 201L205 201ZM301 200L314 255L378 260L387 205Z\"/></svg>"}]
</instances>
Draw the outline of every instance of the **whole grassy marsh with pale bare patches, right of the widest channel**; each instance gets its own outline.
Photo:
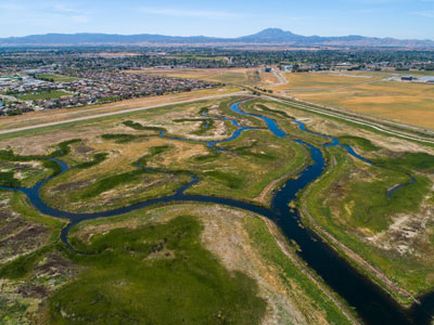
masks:
<instances>
[{"instance_id":1,"label":"whole grassy marsh with pale bare patches, right of the widest channel","mask_svg":"<svg viewBox=\"0 0 434 325\"><path fill-rule=\"evenodd\" d=\"M434 157L406 154L378 159L379 166L396 169L391 170L355 164L340 148L330 148L329 155L335 162L302 197L310 216L403 288L418 295L433 287L433 250L426 242L431 227L421 220L431 213L425 209L432 199L432 182L421 174L417 183L391 197L387 190L408 183L410 170L427 172Z\"/></svg>"}]
</instances>

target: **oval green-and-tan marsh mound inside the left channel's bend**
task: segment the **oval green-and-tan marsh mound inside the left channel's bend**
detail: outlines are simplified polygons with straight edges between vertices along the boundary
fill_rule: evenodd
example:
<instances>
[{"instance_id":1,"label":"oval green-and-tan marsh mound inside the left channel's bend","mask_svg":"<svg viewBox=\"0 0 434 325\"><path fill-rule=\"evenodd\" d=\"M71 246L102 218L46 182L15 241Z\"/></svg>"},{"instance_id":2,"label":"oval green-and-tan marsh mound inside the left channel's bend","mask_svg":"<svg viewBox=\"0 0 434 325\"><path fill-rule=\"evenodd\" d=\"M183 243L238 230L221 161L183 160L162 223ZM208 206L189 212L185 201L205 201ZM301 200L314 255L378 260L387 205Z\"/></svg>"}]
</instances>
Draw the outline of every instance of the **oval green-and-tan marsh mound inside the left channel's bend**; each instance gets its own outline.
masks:
<instances>
[{"instance_id":1,"label":"oval green-and-tan marsh mound inside the left channel's bend","mask_svg":"<svg viewBox=\"0 0 434 325\"><path fill-rule=\"evenodd\" d=\"M51 180L41 188L42 198L58 209L94 212L174 194L179 186L190 181L189 173L177 170L155 172L145 168L149 160L169 147L171 146L149 147L146 155L131 161L132 167L123 168L122 171L117 168L110 168L110 164L104 164L102 168L106 171L101 172L95 166L102 159L93 158L87 162L74 162L76 165L66 173ZM99 154L94 156L99 157ZM105 157L105 155L102 156L102 158ZM66 158L72 159L71 157ZM65 203L68 204L65 205Z\"/></svg>"}]
</instances>

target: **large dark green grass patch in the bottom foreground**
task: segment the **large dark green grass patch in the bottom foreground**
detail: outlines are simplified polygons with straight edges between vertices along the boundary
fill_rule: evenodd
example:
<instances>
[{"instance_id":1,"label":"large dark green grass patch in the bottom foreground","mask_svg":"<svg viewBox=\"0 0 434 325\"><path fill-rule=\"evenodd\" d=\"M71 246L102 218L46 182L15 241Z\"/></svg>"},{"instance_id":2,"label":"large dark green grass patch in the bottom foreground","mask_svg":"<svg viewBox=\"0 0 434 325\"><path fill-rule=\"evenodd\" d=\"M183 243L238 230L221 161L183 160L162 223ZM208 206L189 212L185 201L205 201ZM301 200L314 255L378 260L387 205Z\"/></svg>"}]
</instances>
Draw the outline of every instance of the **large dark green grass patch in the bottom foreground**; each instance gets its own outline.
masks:
<instances>
[{"instance_id":1,"label":"large dark green grass patch in the bottom foreground","mask_svg":"<svg viewBox=\"0 0 434 325\"><path fill-rule=\"evenodd\" d=\"M51 324L260 324L266 302L255 282L228 272L200 244L192 217L114 230L76 256L87 271L55 292ZM170 311L170 312L168 312Z\"/></svg>"}]
</instances>

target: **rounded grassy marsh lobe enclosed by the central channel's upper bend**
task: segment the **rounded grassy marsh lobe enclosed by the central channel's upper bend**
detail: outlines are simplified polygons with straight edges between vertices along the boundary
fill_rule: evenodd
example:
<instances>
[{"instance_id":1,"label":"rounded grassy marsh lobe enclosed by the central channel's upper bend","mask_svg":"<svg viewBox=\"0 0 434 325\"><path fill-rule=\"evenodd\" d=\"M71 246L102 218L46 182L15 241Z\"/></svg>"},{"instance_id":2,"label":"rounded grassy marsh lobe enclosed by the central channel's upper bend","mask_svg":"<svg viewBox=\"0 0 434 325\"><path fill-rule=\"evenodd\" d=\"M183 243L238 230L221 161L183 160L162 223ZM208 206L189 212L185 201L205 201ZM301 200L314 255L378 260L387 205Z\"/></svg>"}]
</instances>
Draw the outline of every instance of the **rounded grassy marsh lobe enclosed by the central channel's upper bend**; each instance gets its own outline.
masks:
<instances>
[{"instance_id":1,"label":"rounded grassy marsh lobe enclosed by the central channel's upper bend","mask_svg":"<svg viewBox=\"0 0 434 325\"><path fill-rule=\"evenodd\" d=\"M272 181L290 178L307 160L302 145L265 130L245 131L237 140L220 143L218 148L228 152L209 152L173 167L195 170L201 178L188 193L253 199ZM267 205L268 199L263 204Z\"/></svg>"}]
</instances>

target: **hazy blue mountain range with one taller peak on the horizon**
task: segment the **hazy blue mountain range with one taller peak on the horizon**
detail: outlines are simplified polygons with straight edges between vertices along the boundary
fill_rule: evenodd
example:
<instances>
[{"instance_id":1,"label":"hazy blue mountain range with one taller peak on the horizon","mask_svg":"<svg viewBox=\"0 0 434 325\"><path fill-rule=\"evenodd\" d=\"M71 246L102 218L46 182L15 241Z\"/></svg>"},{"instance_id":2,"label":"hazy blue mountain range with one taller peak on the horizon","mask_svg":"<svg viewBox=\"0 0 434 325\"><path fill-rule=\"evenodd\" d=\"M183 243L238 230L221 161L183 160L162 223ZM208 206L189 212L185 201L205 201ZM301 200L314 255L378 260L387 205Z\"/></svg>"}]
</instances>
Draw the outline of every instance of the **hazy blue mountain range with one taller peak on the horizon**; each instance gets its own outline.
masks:
<instances>
[{"instance_id":1,"label":"hazy blue mountain range with one taller peak on the horizon","mask_svg":"<svg viewBox=\"0 0 434 325\"><path fill-rule=\"evenodd\" d=\"M46 34L0 38L0 47L25 46L144 46L144 44L276 44L292 47L355 47L434 49L433 40L401 40L357 35L343 37L302 36L279 28L268 28L239 38L206 36L116 35L116 34Z\"/></svg>"}]
</instances>

